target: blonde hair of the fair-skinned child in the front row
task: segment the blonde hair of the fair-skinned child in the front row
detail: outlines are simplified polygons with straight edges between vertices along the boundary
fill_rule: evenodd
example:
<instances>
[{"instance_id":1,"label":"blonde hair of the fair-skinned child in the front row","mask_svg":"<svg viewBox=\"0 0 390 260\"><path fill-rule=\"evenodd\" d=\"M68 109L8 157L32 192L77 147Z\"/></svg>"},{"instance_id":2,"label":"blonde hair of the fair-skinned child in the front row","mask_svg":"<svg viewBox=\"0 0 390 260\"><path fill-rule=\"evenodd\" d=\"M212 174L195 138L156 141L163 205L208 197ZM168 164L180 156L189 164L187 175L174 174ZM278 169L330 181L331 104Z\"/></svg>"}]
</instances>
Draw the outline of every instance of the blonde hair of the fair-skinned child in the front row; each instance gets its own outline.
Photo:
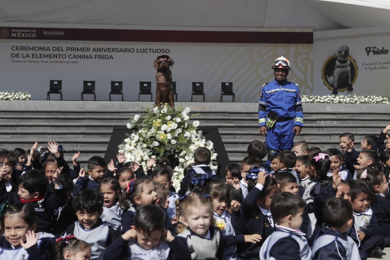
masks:
<instances>
[{"instance_id":1,"label":"blonde hair of the fair-skinned child in the front row","mask_svg":"<svg viewBox=\"0 0 390 260\"><path fill-rule=\"evenodd\" d=\"M189 213L189 211L192 208L196 208L198 206L206 206L209 208L210 216L211 216L211 226L214 226L215 224L215 219L213 218L213 199L210 197L206 198L202 194L198 193L191 193L188 196L186 196L184 199L176 200L176 217L177 220L179 220L180 216L186 217ZM184 226L183 223L178 222L176 231L177 233L183 233L184 230L186 229L186 226Z\"/></svg>"}]
</instances>

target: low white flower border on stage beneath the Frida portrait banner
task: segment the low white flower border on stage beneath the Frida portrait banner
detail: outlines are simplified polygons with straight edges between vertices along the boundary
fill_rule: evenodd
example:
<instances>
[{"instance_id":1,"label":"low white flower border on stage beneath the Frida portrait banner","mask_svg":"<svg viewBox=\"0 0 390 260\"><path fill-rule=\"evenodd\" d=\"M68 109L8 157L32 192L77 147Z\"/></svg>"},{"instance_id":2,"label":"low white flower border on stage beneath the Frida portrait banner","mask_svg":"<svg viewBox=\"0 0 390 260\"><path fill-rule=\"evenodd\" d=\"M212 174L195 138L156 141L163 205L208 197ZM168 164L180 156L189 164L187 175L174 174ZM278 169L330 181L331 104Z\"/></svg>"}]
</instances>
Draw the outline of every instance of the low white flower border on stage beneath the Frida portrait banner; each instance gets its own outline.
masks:
<instances>
[{"instance_id":1,"label":"low white flower border on stage beneath the Frida portrait banner","mask_svg":"<svg viewBox=\"0 0 390 260\"><path fill-rule=\"evenodd\" d=\"M332 104L389 104L388 96L358 96L358 95L328 95L328 96L311 96L303 95L302 103L332 103Z\"/></svg>"}]
</instances>

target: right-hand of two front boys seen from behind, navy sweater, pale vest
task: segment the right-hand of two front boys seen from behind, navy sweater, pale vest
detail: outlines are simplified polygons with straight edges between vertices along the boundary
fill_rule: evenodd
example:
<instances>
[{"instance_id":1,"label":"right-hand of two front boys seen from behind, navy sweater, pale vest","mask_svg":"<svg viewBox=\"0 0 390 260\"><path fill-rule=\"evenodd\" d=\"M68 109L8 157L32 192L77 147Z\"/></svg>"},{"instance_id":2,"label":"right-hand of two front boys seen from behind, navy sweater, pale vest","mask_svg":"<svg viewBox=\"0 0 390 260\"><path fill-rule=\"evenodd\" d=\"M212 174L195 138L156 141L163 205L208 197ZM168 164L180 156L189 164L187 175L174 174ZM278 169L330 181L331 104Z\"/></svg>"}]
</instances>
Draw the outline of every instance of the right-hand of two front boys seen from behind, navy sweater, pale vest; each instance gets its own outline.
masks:
<instances>
[{"instance_id":1,"label":"right-hand of two front boys seen from behind, navy sweater, pale vest","mask_svg":"<svg viewBox=\"0 0 390 260\"><path fill-rule=\"evenodd\" d=\"M361 259L356 243L347 232L353 226L349 201L332 198L324 205L324 221L312 246L312 259Z\"/></svg>"}]
</instances>

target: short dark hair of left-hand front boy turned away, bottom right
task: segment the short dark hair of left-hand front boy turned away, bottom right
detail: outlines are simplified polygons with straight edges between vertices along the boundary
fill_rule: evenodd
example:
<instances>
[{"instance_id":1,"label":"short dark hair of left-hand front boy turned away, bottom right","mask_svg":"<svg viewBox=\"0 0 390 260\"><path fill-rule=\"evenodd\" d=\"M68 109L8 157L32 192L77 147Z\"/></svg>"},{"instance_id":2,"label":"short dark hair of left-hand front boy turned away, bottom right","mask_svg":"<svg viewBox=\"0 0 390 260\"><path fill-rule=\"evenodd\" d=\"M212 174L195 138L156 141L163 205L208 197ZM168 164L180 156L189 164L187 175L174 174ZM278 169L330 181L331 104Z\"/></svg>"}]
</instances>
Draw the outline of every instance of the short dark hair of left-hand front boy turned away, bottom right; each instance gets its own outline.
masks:
<instances>
[{"instance_id":1,"label":"short dark hair of left-hand front boy turned away, bottom right","mask_svg":"<svg viewBox=\"0 0 390 260\"><path fill-rule=\"evenodd\" d=\"M296 215L300 210L305 210L306 202L297 194L291 192L279 192L272 197L272 217L279 221L287 215Z\"/></svg>"}]
</instances>

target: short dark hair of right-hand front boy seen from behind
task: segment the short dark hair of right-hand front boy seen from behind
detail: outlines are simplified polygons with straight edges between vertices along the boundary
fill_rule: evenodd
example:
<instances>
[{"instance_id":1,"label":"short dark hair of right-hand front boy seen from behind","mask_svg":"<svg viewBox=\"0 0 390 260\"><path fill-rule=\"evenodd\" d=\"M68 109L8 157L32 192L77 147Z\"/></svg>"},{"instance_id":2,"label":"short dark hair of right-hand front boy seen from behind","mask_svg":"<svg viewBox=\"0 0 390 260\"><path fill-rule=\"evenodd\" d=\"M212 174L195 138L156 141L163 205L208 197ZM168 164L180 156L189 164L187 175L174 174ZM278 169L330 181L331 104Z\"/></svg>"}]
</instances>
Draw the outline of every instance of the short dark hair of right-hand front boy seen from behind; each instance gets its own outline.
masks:
<instances>
[{"instance_id":1,"label":"short dark hair of right-hand front boy seen from behind","mask_svg":"<svg viewBox=\"0 0 390 260\"><path fill-rule=\"evenodd\" d=\"M342 198L328 199L323 208L324 221L330 228L341 228L353 218L352 214L352 204Z\"/></svg>"}]
</instances>

